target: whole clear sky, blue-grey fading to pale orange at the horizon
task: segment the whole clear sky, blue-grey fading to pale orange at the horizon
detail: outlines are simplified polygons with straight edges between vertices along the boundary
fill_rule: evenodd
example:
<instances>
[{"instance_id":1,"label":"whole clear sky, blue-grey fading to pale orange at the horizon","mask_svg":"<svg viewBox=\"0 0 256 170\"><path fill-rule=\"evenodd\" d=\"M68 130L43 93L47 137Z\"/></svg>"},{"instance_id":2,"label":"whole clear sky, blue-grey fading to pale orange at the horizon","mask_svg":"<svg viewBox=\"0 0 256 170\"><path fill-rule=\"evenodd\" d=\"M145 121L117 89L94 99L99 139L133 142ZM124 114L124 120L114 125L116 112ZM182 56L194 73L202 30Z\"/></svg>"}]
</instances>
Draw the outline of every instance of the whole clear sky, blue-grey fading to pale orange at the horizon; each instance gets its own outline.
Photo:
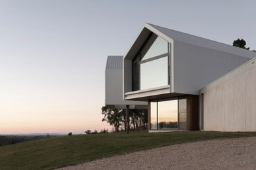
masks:
<instances>
[{"instance_id":1,"label":"whole clear sky, blue-grey fading to pale orange at the horizon","mask_svg":"<svg viewBox=\"0 0 256 170\"><path fill-rule=\"evenodd\" d=\"M256 1L0 1L0 134L100 130L108 55L145 22L256 50Z\"/></svg>"}]
</instances>

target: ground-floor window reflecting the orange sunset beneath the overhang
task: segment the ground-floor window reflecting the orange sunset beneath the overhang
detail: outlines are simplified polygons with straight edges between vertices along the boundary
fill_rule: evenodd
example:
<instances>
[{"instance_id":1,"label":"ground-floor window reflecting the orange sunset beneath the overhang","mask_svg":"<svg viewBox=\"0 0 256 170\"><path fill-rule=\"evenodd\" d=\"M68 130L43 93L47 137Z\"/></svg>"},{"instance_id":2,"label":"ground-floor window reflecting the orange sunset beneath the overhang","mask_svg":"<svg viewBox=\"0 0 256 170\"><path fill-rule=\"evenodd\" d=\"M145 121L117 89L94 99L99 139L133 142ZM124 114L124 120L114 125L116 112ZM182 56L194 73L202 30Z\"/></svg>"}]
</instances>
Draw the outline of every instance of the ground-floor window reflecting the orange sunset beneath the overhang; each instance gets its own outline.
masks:
<instances>
[{"instance_id":1,"label":"ground-floor window reflecting the orange sunset beneath the overhang","mask_svg":"<svg viewBox=\"0 0 256 170\"><path fill-rule=\"evenodd\" d=\"M150 102L151 129L186 130L186 98Z\"/></svg>"}]
</instances>

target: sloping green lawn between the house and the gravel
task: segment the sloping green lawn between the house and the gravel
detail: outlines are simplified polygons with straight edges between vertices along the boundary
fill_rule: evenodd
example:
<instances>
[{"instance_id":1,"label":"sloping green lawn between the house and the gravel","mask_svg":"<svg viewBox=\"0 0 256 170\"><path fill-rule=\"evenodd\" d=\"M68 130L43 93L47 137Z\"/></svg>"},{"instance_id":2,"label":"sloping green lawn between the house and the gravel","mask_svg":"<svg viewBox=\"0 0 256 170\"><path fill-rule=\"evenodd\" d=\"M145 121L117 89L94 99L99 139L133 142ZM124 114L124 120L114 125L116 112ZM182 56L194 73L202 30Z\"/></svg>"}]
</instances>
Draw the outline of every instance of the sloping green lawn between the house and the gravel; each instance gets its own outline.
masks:
<instances>
[{"instance_id":1,"label":"sloping green lawn between the house and the gravel","mask_svg":"<svg viewBox=\"0 0 256 170\"><path fill-rule=\"evenodd\" d=\"M0 169L54 169L170 144L249 136L255 133L144 131L53 137L1 146Z\"/></svg>"}]
</instances>

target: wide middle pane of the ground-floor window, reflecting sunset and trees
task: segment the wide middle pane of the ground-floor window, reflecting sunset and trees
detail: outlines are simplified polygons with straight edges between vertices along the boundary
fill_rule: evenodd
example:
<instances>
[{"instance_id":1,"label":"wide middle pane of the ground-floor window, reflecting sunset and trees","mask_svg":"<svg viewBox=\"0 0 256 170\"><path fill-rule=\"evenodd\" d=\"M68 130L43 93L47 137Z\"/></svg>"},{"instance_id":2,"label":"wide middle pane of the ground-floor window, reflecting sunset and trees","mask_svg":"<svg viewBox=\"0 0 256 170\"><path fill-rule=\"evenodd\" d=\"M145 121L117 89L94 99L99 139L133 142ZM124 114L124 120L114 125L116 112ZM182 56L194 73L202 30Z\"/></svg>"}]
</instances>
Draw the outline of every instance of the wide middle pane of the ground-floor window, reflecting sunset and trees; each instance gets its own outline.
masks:
<instances>
[{"instance_id":1,"label":"wide middle pane of the ground-floor window, reflecting sunset and trees","mask_svg":"<svg viewBox=\"0 0 256 170\"><path fill-rule=\"evenodd\" d=\"M158 102L158 129L178 128L178 100Z\"/></svg>"}]
</instances>

